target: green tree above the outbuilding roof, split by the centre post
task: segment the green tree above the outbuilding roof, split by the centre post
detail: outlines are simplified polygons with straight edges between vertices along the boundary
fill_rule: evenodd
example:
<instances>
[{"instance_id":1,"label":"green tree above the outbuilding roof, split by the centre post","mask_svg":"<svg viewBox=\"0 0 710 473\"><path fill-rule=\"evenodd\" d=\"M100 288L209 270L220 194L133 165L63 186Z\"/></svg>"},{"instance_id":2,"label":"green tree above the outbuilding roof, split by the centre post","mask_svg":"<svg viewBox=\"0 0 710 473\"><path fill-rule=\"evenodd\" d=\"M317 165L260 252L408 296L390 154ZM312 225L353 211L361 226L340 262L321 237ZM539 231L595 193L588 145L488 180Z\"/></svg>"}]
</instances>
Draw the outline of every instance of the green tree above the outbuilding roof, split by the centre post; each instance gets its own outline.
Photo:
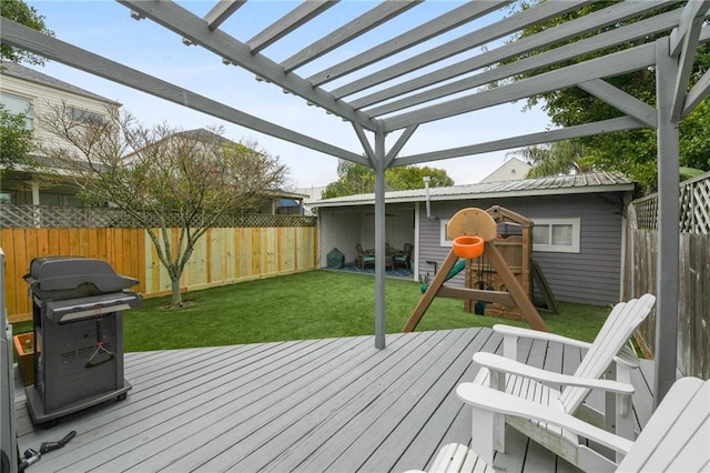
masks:
<instances>
[{"instance_id":1,"label":"green tree above the outbuilding roof, split by the centre post","mask_svg":"<svg viewBox=\"0 0 710 473\"><path fill-rule=\"evenodd\" d=\"M375 171L363 164L339 160L337 163L338 180L331 182L322 192L322 199L375 192ZM429 177L429 185L440 188L454 185L454 180L443 169L416 165L403 165L385 171L385 189L403 191L423 189L424 177Z\"/></svg>"}]
</instances>

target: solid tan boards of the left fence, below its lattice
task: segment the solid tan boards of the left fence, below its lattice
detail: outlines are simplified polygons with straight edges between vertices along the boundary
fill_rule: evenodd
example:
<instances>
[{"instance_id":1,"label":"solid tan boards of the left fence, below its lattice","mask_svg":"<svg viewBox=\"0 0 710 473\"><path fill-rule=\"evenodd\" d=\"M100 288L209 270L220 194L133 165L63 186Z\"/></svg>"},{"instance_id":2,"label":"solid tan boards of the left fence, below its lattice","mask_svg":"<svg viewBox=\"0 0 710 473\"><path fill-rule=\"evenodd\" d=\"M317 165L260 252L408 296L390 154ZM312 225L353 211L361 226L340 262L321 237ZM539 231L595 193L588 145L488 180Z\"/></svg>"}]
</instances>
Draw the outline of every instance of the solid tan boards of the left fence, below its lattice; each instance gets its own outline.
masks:
<instances>
[{"instance_id":1,"label":"solid tan boards of the left fence, below its lattice","mask_svg":"<svg viewBox=\"0 0 710 473\"><path fill-rule=\"evenodd\" d=\"M210 229L195 245L181 288L190 291L316 269L315 220L302 221L312 223ZM173 241L179 231L171 229ZM116 273L138 279L140 284L132 289L144 296L170 293L170 276L142 229L2 228L0 248L6 254L6 299L11 322L31 318L28 285L22 276L29 271L30 261L38 256L99 258L108 261Z\"/></svg>"}]
</instances>

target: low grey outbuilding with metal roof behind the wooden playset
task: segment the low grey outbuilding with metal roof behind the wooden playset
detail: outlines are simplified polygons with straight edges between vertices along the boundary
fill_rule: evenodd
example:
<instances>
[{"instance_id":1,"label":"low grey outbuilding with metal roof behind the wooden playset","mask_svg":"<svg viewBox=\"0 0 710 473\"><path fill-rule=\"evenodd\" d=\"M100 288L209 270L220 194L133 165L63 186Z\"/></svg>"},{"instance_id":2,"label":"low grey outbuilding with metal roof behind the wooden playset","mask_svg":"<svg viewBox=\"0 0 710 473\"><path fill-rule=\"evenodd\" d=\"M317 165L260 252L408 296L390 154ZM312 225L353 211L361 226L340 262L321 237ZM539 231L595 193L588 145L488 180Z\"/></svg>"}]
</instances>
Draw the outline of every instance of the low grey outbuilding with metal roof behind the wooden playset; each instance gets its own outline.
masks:
<instances>
[{"instance_id":1,"label":"low grey outbuilding with metal roof behind the wooden playset","mask_svg":"<svg viewBox=\"0 0 710 473\"><path fill-rule=\"evenodd\" d=\"M414 276L434 274L450 250L446 223L458 210L500 205L535 223L532 258L560 301L618 302L625 242L625 211L633 182L618 173L595 172L557 178L489 182L386 193L386 241L414 243ZM354 261L355 245L374 246L374 194L313 203L318 209L320 261L337 248ZM463 285L463 273L448 284Z\"/></svg>"}]
</instances>

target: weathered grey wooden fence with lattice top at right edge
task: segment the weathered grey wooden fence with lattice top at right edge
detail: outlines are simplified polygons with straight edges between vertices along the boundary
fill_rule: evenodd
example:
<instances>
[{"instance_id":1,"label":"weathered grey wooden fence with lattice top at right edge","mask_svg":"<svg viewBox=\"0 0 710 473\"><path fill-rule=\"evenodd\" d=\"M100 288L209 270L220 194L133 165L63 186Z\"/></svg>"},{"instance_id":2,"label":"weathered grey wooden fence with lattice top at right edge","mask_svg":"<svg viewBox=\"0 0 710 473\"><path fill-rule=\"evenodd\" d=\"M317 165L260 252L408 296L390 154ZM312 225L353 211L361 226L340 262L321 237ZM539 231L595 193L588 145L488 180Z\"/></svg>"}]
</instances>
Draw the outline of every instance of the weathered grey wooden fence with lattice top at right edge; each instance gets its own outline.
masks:
<instances>
[{"instance_id":1,"label":"weathered grey wooden fence with lattice top at right edge","mask_svg":"<svg viewBox=\"0 0 710 473\"><path fill-rule=\"evenodd\" d=\"M678 300L678 370L710 379L710 172L681 184ZM632 202L629 211L623 298L656 293L658 195ZM656 351L656 313L637 340Z\"/></svg>"}]
</instances>

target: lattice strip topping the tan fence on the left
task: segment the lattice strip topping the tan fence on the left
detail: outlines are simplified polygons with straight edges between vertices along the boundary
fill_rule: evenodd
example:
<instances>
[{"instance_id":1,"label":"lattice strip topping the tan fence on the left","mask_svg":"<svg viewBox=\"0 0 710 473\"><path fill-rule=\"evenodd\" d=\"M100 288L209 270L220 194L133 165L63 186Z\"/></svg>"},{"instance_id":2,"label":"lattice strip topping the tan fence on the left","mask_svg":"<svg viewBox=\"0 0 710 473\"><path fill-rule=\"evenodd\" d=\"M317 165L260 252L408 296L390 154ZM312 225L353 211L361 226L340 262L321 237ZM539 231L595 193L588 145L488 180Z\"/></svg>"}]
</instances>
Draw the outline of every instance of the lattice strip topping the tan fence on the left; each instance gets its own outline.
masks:
<instances>
[{"instance_id":1,"label":"lattice strip topping the tan fence on the left","mask_svg":"<svg viewBox=\"0 0 710 473\"><path fill-rule=\"evenodd\" d=\"M146 214L151 227L161 227L158 215ZM168 228L182 227L179 215L169 215ZM222 215L212 228L315 227L316 217L243 213ZM2 228L141 228L131 215L116 209L78 207L13 205L0 207ZM195 225L197 227L197 225Z\"/></svg>"}]
</instances>

